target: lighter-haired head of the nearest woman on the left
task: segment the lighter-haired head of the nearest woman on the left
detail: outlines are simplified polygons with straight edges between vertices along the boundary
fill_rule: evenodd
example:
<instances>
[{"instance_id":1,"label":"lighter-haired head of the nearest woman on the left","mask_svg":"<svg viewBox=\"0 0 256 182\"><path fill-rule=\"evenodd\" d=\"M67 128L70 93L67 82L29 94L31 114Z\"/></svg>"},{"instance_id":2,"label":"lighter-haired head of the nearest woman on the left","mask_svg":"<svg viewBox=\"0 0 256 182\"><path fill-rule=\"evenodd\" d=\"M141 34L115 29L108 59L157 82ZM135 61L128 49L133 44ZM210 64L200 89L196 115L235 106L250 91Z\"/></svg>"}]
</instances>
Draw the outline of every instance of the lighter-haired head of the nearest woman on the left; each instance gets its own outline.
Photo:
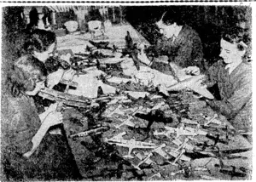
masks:
<instances>
[{"instance_id":1,"label":"lighter-haired head of the nearest woman on the left","mask_svg":"<svg viewBox=\"0 0 256 182\"><path fill-rule=\"evenodd\" d=\"M46 75L44 63L31 55L20 57L9 72L11 94L15 97L21 94L38 94L44 88Z\"/></svg>"}]
</instances>

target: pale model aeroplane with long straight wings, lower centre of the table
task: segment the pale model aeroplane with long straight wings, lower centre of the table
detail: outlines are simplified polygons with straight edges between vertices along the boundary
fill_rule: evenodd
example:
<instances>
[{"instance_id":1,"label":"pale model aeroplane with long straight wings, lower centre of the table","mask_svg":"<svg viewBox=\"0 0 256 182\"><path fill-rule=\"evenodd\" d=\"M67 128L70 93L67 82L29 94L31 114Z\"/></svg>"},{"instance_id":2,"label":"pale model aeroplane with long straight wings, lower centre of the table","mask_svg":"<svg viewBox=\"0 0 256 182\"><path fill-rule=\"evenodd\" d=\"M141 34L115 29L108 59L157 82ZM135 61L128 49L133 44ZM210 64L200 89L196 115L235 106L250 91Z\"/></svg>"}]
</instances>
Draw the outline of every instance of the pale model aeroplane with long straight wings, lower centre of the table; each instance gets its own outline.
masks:
<instances>
[{"instance_id":1,"label":"pale model aeroplane with long straight wings, lower centre of the table","mask_svg":"<svg viewBox=\"0 0 256 182\"><path fill-rule=\"evenodd\" d=\"M123 157L133 158L134 156L131 156L131 151L133 149L154 149L156 145L154 143L149 142L142 142L137 141L135 139L104 139L105 142L107 142L110 145L118 145L123 147L128 147L129 151L128 154Z\"/></svg>"}]
</instances>

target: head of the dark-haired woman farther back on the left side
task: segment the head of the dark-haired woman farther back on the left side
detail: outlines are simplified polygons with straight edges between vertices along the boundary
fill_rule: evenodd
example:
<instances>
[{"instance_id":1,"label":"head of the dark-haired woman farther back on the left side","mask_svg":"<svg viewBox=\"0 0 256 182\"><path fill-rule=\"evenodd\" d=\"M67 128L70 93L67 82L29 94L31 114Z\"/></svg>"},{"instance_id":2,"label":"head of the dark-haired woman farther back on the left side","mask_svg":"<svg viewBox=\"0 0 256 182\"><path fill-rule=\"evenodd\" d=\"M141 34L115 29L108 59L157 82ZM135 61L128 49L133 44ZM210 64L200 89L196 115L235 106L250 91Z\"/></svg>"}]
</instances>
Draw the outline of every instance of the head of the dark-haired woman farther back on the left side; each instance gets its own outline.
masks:
<instances>
[{"instance_id":1,"label":"head of the dark-haired woman farther back on the left side","mask_svg":"<svg viewBox=\"0 0 256 182\"><path fill-rule=\"evenodd\" d=\"M32 31L24 44L26 53L33 54L38 60L44 62L51 54L54 54L57 41L55 33L37 29Z\"/></svg>"}]
</instances>

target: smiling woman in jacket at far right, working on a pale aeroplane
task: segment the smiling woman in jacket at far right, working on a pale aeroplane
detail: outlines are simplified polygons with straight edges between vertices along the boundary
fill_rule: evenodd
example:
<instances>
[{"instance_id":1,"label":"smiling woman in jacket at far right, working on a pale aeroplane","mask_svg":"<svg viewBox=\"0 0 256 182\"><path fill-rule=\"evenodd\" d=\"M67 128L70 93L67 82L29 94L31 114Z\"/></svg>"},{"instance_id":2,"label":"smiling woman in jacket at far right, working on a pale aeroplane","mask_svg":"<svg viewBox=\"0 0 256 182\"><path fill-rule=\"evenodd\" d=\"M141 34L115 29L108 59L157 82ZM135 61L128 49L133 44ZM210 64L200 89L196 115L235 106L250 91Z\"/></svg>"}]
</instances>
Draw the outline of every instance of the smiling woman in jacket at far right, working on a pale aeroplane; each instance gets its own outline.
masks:
<instances>
[{"instance_id":1,"label":"smiling woman in jacket at far right, working on a pale aeroplane","mask_svg":"<svg viewBox=\"0 0 256 182\"><path fill-rule=\"evenodd\" d=\"M227 117L237 130L251 131L252 65L243 59L247 43L241 35L239 28L232 28L220 40L219 56L222 59L210 66L205 75L207 87L218 84L221 100L207 100L207 104ZM185 71L188 74L200 74L196 66L190 66ZM198 87L201 87L200 84Z\"/></svg>"}]
</instances>

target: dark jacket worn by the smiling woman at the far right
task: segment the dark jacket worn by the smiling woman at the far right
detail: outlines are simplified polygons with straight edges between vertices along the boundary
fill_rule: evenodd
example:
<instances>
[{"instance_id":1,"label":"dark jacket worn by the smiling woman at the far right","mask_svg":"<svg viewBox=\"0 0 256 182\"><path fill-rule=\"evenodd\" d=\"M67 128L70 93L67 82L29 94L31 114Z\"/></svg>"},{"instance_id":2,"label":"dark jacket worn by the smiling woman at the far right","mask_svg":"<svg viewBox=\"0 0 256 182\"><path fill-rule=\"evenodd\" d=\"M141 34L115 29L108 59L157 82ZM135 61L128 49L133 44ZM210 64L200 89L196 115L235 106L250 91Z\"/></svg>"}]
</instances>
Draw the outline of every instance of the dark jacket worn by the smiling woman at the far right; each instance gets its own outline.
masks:
<instances>
[{"instance_id":1,"label":"dark jacket worn by the smiling woman at the far right","mask_svg":"<svg viewBox=\"0 0 256 182\"><path fill-rule=\"evenodd\" d=\"M221 100L208 104L219 111L237 129L252 128L252 65L241 62L229 75L222 60L213 64L207 71L208 86L218 83Z\"/></svg>"}]
</instances>

